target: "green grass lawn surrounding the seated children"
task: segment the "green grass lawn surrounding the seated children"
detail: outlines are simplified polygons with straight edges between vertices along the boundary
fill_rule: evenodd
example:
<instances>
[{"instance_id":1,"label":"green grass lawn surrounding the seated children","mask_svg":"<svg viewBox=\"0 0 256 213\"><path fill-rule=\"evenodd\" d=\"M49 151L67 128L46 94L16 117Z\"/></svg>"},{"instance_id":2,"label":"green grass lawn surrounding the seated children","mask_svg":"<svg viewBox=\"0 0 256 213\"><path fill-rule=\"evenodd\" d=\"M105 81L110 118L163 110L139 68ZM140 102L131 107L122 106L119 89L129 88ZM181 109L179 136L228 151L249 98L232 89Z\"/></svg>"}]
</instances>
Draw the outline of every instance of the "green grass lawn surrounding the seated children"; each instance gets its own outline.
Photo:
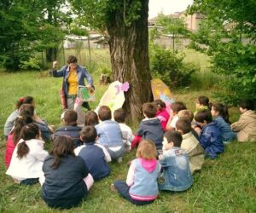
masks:
<instances>
[{"instance_id":1,"label":"green grass lawn surrounding the seated children","mask_svg":"<svg viewBox=\"0 0 256 213\"><path fill-rule=\"evenodd\" d=\"M99 101L106 89L96 81L96 97ZM24 187L15 184L5 175L5 141L3 124L15 109L15 101L23 95L32 95L36 100L37 114L49 124L60 124L61 101L59 90L61 78L49 78L47 72L0 72L0 212L58 212L49 209L40 198L39 184ZM195 110L198 95L212 97L211 90L175 90L172 94L178 101ZM96 104L91 107L96 107ZM234 108L231 121L239 114ZM136 127L135 127L136 129ZM47 146L49 147L49 145ZM126 163L136 152L125 155L122 164L111 163L111 176L97 181L87 199L78 208L64 212L255 212L256 211L256 146L255 143L234 142L227 145L225 153L216 160L207 159L200 173L195 174L194 184L183 193L160 192L154 204L137 207L109 190L114 180L125 180ZM60 211L61 212L61 211Z\"/></svg>"}]
</instances>

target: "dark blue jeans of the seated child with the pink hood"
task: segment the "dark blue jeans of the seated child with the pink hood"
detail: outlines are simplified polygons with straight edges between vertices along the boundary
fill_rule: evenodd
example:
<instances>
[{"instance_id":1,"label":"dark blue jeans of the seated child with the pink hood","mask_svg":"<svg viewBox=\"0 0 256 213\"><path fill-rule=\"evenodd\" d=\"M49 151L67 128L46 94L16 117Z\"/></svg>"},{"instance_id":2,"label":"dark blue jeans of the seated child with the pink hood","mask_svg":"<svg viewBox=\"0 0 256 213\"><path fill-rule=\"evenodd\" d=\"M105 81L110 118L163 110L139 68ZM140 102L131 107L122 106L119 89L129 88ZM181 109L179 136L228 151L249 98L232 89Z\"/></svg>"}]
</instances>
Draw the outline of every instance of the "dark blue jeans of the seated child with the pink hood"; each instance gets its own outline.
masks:
<instances>
[{"instance_id":1,"label":"dark blue jeans of the seated child with the pink hood","mask_svg":"<svg viewBox=\"0 0 256 213\"><path fill-rule=\"evenodd\" d=\"M154 202L154 200L141 201L141 200L131 199L131 195L129 193L130 187L128 187L125 181L114 181L113 185L116 188L116 190L122 195L122 197L130 201L131 204L143 205L143 204L152 204Z\"/></svg>"}]
</instances>

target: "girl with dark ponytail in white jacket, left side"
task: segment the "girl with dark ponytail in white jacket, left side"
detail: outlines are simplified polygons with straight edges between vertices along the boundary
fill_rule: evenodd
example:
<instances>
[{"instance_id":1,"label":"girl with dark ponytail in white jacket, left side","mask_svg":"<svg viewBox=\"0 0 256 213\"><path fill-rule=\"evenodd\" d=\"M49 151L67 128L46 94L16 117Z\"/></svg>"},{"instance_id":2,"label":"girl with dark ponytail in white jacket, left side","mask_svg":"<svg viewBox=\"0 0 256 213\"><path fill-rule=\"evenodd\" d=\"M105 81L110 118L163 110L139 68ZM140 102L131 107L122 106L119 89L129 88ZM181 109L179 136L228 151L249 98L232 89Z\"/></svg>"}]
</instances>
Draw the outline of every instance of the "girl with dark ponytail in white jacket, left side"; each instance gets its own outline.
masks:
<instances>
[{"instance_id":1,"label":"girl with dark ponytail in white jacket, left side","mask_svg":"<svg viewBox=\"0 0 256 213\"><path fill-rule=\"evenodd\" d=\"M44 150L44 141L36 124L26 124L20 138L6 174L15 182L32 185L42 176L44 158L48 153Z\"/></svg>"}]
</instances>

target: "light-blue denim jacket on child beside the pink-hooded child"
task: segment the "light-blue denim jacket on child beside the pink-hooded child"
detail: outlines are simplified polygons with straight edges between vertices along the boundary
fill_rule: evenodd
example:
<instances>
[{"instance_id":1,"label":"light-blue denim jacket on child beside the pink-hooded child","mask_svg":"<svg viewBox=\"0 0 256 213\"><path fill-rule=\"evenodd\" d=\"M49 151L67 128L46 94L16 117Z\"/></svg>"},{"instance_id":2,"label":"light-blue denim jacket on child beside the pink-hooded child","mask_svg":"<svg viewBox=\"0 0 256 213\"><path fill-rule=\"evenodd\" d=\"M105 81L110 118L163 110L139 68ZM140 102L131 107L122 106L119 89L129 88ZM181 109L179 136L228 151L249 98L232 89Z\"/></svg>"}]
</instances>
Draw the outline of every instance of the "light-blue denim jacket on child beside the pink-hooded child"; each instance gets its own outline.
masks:
<instances>
[{"instance_id":1,"label":"light-blue denim jacket on child beside the pink-hooded child","mask_svg":"<svg viewBox=\"0 0 256 213\"><path fill-rule=\"evenodd\" d=\"M179 147L166 151L160 158L161 172L158 177L160 190L184 191L191 187L193 176L189 169L189 158Z\"/></svg>"}]
</instances>

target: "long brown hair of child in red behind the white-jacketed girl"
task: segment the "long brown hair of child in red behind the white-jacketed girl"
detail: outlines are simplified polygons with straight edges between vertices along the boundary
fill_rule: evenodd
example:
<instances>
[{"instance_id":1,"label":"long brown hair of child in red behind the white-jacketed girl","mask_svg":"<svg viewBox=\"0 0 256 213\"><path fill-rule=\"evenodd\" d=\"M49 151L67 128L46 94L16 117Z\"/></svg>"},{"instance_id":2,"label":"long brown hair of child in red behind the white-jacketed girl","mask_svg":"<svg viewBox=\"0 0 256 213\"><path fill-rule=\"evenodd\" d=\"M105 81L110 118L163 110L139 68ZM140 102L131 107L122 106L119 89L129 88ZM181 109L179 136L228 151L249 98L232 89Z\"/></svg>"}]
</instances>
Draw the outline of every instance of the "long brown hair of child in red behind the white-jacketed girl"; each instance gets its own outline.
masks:
<instances>
[{"instance_id":1,"label":"long brown hair of child in red behind the white-jacketed girl","mask_svg":"<svg viewBox=\"0 0 256 213\"><path fill-rule=\"evenodd\" d=\"M15 128L11 131L14 134L13 140L17 143L20 140L20 131L26 124L32 124L33 119L30 115L20 115L15 119Z\"/></svg>"}]
</instances>

